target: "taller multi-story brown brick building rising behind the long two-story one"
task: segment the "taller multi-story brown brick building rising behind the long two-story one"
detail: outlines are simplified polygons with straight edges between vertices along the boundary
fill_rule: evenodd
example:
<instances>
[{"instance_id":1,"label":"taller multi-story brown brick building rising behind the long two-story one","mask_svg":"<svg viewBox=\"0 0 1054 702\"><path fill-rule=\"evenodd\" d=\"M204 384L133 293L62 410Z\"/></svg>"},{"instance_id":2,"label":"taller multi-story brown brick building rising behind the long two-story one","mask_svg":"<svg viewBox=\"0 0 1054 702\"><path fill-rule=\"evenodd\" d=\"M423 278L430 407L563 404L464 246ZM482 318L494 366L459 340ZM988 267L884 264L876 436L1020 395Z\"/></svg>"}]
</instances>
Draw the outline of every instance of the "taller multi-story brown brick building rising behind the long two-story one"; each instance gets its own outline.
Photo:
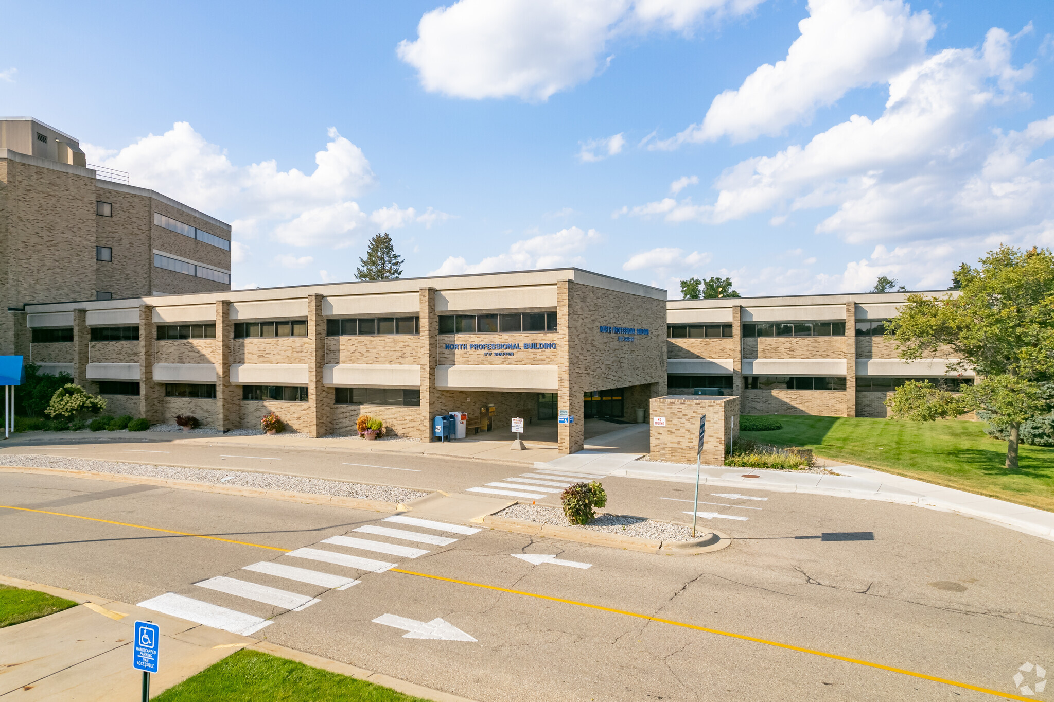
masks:
<instances>
[{"instance_id":1,"label":"taller multi-story brown brick building rising behind the long two-story one","mask_svg":"<svg viewBox=\"0 0 1054 702\"><path fill-rule=\"evenodd\" d=\"M231 288L231 226L86 162L77 139L0 118L0 353L26 304Z\"/></svg>"}]
</instances>

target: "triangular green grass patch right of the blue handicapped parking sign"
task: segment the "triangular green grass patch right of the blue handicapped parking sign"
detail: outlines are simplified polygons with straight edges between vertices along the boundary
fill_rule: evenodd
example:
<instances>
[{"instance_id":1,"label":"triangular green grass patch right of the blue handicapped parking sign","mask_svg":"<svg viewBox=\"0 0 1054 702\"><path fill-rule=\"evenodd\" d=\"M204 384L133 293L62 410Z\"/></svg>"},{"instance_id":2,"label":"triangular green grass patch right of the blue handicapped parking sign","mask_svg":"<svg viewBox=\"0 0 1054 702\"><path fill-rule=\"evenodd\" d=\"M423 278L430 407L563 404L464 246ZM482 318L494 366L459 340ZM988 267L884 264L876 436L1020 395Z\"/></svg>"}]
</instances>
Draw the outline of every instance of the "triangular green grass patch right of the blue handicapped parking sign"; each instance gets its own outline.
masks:
<instances>
[{"instance_id":1,"label":"triangular green grass patch right of the blue handicapped parking sign","mask_svg":"<svg viewBox=\"0 0 1054 702\"><path fill-rule=\"evenodd\" d=\"M154 702L426 702L365 680L241 649Z\"/></svg>"}]
</instances>

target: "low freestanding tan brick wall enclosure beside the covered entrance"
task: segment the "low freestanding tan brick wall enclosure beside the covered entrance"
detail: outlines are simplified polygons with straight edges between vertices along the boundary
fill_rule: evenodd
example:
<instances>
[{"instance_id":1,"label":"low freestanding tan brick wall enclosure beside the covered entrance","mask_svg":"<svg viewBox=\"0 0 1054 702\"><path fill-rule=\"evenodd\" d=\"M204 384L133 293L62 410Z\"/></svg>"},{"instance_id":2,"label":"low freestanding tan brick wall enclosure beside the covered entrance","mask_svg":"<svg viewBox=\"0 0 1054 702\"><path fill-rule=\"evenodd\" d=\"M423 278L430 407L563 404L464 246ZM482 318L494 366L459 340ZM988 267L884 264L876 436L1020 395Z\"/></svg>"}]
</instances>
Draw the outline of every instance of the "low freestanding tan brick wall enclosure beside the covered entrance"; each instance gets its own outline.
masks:
<instances>
[{"instance_id":1,"label":"low freestanding tan brick wall enclosure beside the covered entrance","mask_svg":"<svg viewBox=\"0 0 1054 702\"><path fill-rule=\"evenodd\" d=\"M652 461L695 463L699 446L699 417L706 416L701 461L710 466L723 466L725 447L735 437L733 418L739 416L739 397L696 397L666 395L651 399ZM664 417L665 426L655 426ZM738 434L739 422L735 422Z\"/></svg>"}]
</instances>

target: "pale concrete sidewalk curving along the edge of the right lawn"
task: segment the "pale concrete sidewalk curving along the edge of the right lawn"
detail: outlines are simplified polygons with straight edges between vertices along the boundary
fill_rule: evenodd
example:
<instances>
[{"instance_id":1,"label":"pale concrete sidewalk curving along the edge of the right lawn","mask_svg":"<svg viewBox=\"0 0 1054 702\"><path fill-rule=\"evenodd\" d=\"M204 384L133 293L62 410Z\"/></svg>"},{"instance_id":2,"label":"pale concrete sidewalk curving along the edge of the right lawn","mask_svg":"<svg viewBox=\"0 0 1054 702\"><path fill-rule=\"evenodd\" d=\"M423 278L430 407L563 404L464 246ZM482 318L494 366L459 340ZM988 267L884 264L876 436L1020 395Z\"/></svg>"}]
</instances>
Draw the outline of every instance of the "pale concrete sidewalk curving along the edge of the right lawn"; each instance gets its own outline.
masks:
<instances>
[{"instance_id":1,"label":"pale concrete sidewalk curving along the edge of the right lawn","mask_svg":"<svg viewBox=\"0 0 1054 702\"><path fill-rule=\"evenodd\" d=\"M636 461L629 457L630 455L581 451L545 464L539 464L538 467L585 470L604 475L652 481L696 482L695 466ZM840 474L824 475L783 470L702 466L700 484L777 492L826 494L912 505L973 516L990 524L1054 541L1054 512L1015 505L995 498L985 498L973 492L941 487L860 466L832 465L831 469ZM760 475L760 477L743 477L746 474Z\"/></svg>"}]
</instances>

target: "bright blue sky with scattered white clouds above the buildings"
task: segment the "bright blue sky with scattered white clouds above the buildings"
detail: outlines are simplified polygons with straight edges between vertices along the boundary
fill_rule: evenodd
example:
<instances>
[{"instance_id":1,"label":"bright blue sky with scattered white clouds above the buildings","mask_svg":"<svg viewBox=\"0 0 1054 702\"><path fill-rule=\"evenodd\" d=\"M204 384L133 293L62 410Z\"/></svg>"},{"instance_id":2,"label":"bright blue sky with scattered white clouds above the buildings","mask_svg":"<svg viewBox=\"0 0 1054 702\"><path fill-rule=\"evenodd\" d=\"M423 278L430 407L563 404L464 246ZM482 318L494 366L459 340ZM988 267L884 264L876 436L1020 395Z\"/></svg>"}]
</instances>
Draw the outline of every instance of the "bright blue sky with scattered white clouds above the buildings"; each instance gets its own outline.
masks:
<instances>
[{"instance_id":1,"label":"bright blue sky with scattered white clouds above the buildings","mask_svg":"<svg viewBox=\"0 0 1054 702\"><path fill-rule=\"evenodd\" d=\"M235 287L353 279L377 231L406 276L574 265L671 297L944 288L1054 245L1049 2L3 14L50 38L7 33L0 114L232 222Z\"/></svg>"}]
</instances>

